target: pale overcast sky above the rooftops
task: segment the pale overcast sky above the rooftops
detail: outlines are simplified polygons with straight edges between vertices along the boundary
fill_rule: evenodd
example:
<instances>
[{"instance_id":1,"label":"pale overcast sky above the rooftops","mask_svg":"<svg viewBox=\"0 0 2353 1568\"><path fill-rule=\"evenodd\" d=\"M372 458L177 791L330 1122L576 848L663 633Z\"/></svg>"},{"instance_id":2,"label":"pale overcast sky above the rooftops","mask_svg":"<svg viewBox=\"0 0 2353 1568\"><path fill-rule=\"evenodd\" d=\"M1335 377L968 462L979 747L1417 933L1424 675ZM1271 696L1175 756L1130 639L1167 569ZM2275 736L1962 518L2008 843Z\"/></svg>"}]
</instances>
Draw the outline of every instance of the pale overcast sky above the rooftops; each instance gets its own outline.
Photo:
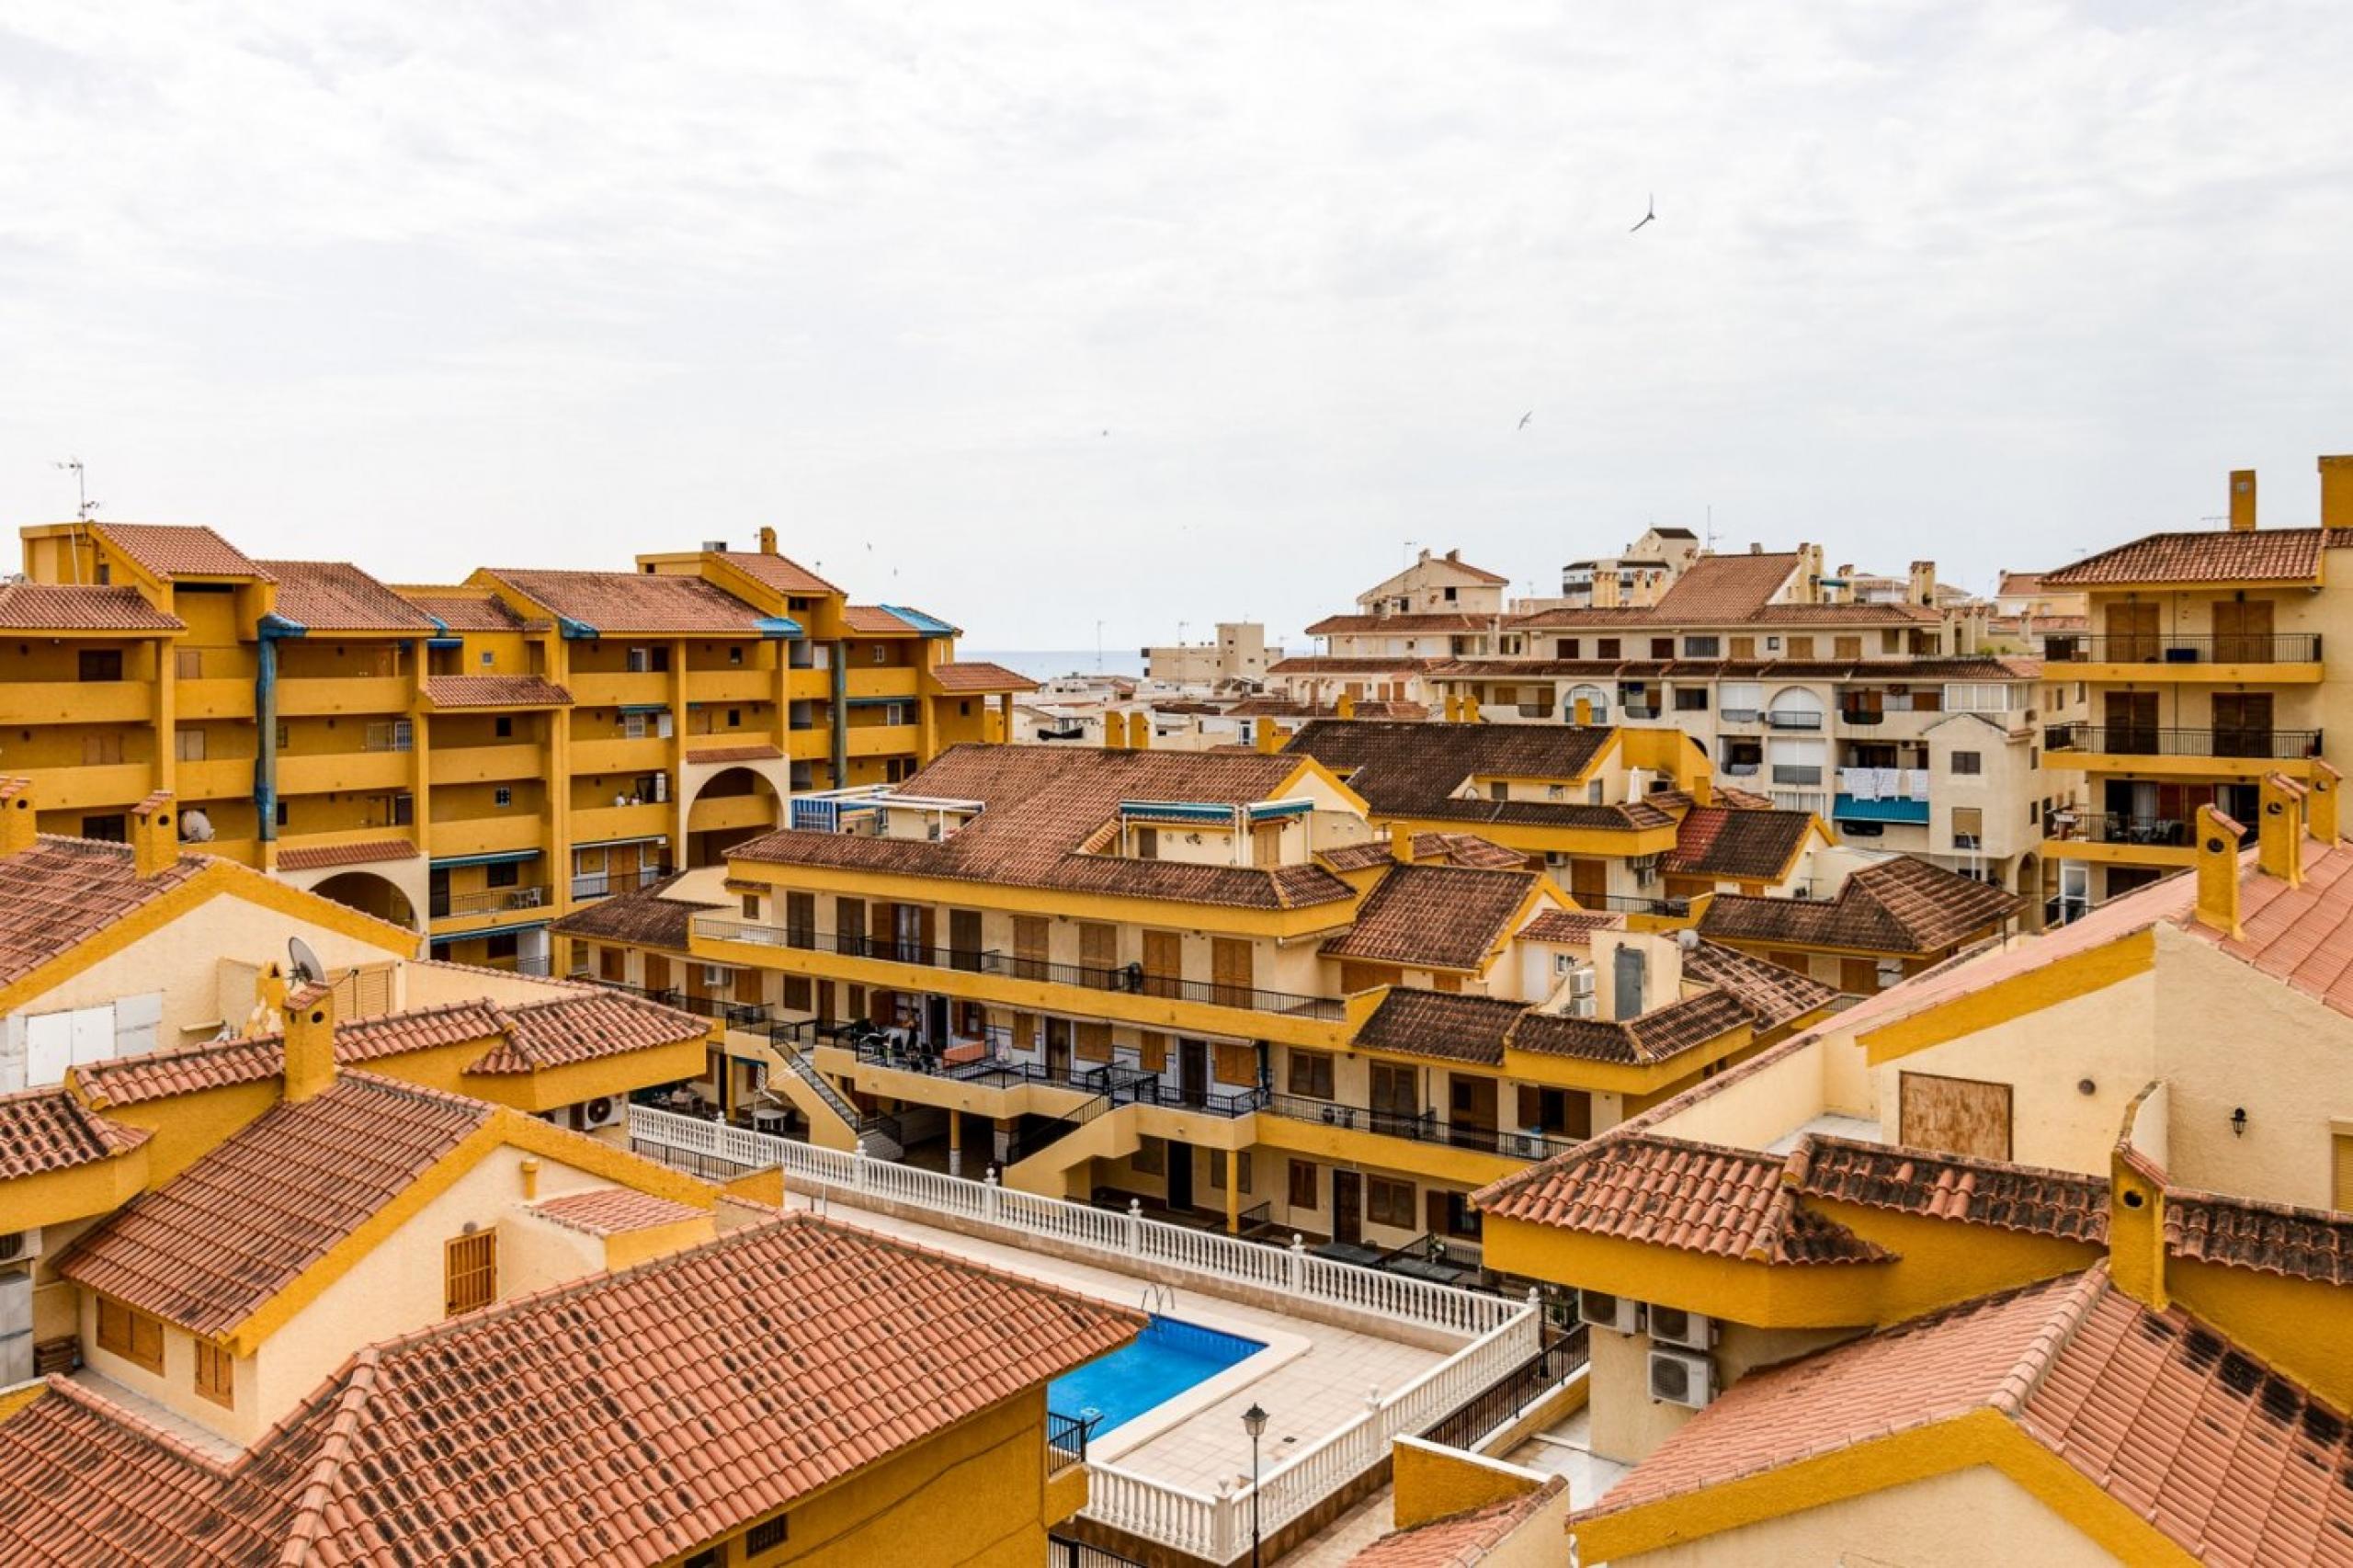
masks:
<instances>
[{"instance_id":1,"label":"pale overcast sky above the rooftops","mask_svg":"<svg viewBox=\"0 0 2353 1568\"><path fill-rule=\"evenodd\" d=\"M972 647L1711 506L1984 589L2231 466L2313 520L2346 59L2346 5L24 0L0 520L80 454L395 582L774 523Z\"/></svg>"}]
</instances>

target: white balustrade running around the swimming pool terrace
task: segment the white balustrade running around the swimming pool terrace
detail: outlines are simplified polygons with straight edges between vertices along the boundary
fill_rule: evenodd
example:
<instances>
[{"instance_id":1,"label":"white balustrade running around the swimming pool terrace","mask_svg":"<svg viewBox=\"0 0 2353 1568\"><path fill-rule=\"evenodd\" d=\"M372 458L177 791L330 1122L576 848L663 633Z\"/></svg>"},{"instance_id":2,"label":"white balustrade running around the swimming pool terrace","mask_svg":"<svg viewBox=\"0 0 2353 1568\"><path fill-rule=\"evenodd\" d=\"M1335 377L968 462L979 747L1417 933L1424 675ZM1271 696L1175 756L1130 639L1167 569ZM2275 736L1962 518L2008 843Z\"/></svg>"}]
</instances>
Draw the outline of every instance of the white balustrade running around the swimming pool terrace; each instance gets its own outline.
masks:
<instances>
[{"instance_id":1,"label":"white balustrade running around the swimming pool terrace","mask_svg":"<svg viewBox=\"0 0 2353 1568\"><path fill-rule=\"evenodd\" d=\"M1162 1224L1134 1210L1101 1210L1087 1203L1007 1191L995 1184L995 1177L972 1182L640 1104L628 1109L628 1135L633 1142L715 1156L746 1170L779 1165L802 1182L1045 1236L1120 1262L1153 1262L1217 1283L1282 1290L1471 1337L1471 1344L1393 1394L1384 1394L1358 1420L1266 1471L1259 1481L1261 1533L1273 1533L1355 1481L1381 1462L1395 1439L1419 1434L1454 1413L1473 1394L1537 1354L1541 1342L1541 1314L1529 1302L1311 1257L1299 1245L1271 1248L1214 1231ZM1101 1460L1089 1460L1087 1469L1085 1511L1115 1530L1214 1563L1233 1561L1249 1540L1247 1486L1202 1497Z\"/></svg>"}]
</instances>

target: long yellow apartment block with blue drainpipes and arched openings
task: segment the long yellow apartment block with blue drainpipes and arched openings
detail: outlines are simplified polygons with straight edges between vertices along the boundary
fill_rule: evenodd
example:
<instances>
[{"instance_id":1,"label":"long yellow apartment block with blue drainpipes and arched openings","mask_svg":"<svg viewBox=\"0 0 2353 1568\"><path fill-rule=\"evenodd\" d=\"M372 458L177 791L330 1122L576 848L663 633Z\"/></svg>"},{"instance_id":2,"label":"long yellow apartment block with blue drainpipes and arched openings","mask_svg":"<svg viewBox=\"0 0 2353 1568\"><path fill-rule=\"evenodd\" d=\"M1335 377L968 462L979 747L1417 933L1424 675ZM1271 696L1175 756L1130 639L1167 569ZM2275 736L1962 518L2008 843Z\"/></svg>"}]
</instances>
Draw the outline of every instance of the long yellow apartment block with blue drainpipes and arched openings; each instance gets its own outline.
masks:
<instances>
[{"instance_id":1,"label":"long yellow apartment block with blue drainpipes and arched openings","mask_svg":"<svg viewBox=\"0 0 2353 1568\"><path fill-rule=\"evenodd\" d=\"M936 617L847 603L774 530L393 589L207 527L61 523L24 530L24 577L0 768L42 831L122 838L172 793L191 845L529 972L576 904L715 864L793 791L995 739L1031 687Z\"/></svg>"}]
</instances>

